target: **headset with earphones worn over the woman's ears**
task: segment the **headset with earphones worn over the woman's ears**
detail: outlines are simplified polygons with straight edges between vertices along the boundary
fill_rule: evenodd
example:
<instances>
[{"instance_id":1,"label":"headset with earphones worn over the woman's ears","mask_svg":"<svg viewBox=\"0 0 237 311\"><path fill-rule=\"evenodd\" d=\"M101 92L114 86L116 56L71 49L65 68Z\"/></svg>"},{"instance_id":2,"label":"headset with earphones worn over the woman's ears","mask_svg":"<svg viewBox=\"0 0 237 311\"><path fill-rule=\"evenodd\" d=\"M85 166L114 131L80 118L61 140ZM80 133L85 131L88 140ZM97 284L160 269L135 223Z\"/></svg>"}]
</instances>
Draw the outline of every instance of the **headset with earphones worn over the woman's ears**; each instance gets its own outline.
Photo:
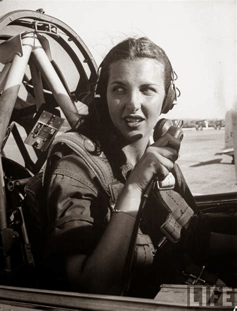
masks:
<instances>
[{"instance_id":1,"label":"headset with earphones worn over the woman's ears","mask_svg":"<svg viewBox=\"0 0 237 311\"><path fill-rule=\"evenodd\" d=\"M171 67L171 81L169 83L168 90L166 92L165 98L163 100L162 108L161 108L161 113L163 113L163 114L167 113L169 110L171 110L173 108L174 105L177 104L177 98L180 96L180 91L175 86L175 80L177 80L177 74L172 69L170 62L169 62L169 65ZM103 66L103 62L100 64L100 66L98 68L98 72L97 72L98 79L97 79L97 81L95 83L95 87L94 87L95 106L97 106L97 104L99 105L98 102L101 99L102 82L101 82L101 78L100 78L100 73L101 73L102 66ZM103 94L103 95L105 96L105 94Z\"/></svg>"}]
</instances>

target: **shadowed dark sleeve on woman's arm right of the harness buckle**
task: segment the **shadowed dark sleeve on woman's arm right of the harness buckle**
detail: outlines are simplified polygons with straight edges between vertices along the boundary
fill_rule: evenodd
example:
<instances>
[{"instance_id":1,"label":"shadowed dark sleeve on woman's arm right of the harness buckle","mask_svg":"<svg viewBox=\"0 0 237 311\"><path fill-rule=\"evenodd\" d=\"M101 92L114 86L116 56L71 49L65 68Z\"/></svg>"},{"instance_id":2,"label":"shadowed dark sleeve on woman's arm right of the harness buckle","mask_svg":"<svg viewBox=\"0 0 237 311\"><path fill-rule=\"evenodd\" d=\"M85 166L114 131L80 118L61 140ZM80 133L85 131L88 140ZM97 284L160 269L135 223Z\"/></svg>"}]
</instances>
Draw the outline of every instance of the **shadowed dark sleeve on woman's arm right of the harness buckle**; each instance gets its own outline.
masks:
<instances>
[{"instance_id":1,"label":"shadowed dark sleeve on woman's arm right of the harness buckle","mask_svg":"<svg viewBox=\"0 0 237 311\"><path fill-rule=\"evenodd\" d=\"M202 213L195 202L195 199L187 186L184 176L178 165L174 165L176 176L175 190L181 194L186 203L194 211L194 215L189 223L186 237L185 249L191 254L193 261L197 264L205 264L207 260L207 250L211 232L211 222L207 214Z\"/></svg>"}]
</instances>

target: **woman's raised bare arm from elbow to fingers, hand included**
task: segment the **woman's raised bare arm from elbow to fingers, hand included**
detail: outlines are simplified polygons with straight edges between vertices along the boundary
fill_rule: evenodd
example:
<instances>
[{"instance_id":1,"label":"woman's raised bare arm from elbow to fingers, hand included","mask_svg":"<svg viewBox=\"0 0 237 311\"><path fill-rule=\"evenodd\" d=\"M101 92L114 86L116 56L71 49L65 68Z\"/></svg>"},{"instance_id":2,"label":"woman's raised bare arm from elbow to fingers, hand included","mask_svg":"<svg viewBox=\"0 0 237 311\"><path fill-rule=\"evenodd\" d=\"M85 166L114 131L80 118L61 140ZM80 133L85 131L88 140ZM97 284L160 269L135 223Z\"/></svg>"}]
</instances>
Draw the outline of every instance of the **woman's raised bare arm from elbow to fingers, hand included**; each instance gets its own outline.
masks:
<instances>
[{"instance_id":1,"label":"woman's raised bare arm from elbow to fingers, hand included","mask_svg":"<svg viewBox=\"0 0 237 311\"><path fill-rule=\"evenodd\" d=\"M174 148L162 147L169 143ZM153 178L164 179L177 158L179 142L167 134L147 148L135 165L116 202L115 209L137 214L141 195ZM135 217L112 213L102 236L88 255L65 257L66 274L75 290L120 294Z\"/></svg>"}]
</instances>

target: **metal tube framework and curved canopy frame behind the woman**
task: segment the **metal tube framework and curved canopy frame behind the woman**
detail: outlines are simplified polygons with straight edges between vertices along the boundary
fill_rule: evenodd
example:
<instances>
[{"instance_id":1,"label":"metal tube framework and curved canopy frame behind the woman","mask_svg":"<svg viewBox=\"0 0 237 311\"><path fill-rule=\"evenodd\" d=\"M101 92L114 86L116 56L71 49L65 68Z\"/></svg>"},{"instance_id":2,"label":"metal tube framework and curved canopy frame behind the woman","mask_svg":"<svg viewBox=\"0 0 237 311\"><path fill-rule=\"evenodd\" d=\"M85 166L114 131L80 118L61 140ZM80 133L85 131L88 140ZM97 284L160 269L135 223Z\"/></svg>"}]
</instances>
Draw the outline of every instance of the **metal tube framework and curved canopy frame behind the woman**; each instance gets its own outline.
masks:
<instances>
[{"instance_id":1,"label":"metal tube framework and curved canopy frame behind the woman","mask_svg":"<svg viewBox=\"0 0 237 311\"><path fill-rule=\"evenodd\" d=\"M16 29L19 27L18 35L4 35L4 31L8 30L9 26ZM52 58L48 38L55 40L62 47L77 69L79 81L73 92L69 91L60 69ZM14 123L9 126L12 115L14 115L12 112L15 112L14 106L20 87L23 85L26 91L32 94L35 101L35 111L40 112L41 107L59 106L69 125L73 127L79 118L74 102L79 101L80 93L88 90L89 83L96 81L97 66L77 34L64 23L39 12L15 11L1 17L0 40L2 41L0 43L0 63L4 65L0 72L0 233L5 261L4 269L6 272L10 272L9 249L13 240L18 239L18 234L12 227L9 227L7 219L9 215L7 215L6 179L2 167L2 154L7 139L7 131L12 132L23 156L25 168L32 173L36 173L41 168L46 157L46 152L35 150L38 160L34 164L28 155L17 127ZM73 42L74 48L71 47L70 41ZM88 72L85 71L85 65L81 64L78 54L83 56L83 62L89 68L89 76ZM31 74L30 81L28 81L26 74L27 65ZM30 84L32 88L30 88ZM45 85L49 92L44 89ZM48 99L49 103L47 103ZM20 116L21 111L22 114L26 113L26 116L27 113L32 115L33 110L29 109L31 106L25 106L26 108L19 110L18 116Z\"/></svg>"}]
</instances>

